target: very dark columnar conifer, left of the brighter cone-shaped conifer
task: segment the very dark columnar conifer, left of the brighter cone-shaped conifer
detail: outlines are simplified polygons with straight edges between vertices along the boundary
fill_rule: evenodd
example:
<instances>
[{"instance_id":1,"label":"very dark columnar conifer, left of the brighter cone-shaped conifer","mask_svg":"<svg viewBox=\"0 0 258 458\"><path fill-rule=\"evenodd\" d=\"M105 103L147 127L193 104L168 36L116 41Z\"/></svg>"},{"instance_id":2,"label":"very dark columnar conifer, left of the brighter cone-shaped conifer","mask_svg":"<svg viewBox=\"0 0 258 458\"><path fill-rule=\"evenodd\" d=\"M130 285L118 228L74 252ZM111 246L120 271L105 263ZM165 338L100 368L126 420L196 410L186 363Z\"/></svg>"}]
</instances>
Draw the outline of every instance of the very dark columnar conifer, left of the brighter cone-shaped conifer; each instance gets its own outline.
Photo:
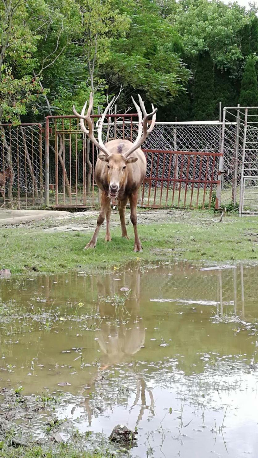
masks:
<instances>
[{"instance_id":1,"label":"very dark columnar conifer, left of the brighter cone-shaped conifer","mask_svg":"<svg viewBox=\"0 0 258 458\"><path fill-rule=\"evenodd\" d=\"M209 53L198 56L193 87L193 119L213 120L215 110L214 68Z\"/></svg>"}]
</instances>

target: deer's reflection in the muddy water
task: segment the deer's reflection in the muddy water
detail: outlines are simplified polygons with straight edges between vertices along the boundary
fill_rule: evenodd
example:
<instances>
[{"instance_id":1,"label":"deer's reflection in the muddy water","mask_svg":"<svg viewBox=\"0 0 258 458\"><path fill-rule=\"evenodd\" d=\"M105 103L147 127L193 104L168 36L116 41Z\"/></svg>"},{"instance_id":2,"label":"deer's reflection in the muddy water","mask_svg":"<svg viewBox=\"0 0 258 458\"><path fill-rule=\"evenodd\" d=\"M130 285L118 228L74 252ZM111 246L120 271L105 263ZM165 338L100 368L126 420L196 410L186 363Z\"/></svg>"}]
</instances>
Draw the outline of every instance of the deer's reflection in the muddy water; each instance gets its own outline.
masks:
<instances>
[{"instance_id":1,"label":"deer's reflection in the muddy water","mask_svg":"<svg viewBox=\"0 0 258 458\"><path fill-rule=\"evenodd\" d=\"M84 394L93 389L95 389L95 392L101 392L102 401L105 399L106 371L108 368L124 362L131 363L132 356L144 347L145 342L145 328L140 316L141 274L139 267L132 271L131 278L129 278L128 273L126 273L126 276L124 274L124 277L120 278L120 281L116 281L113 277L114 274L110 274L98 278L98 312L102 318L102 322L101 329L97 331L96 336L103 354L101 357L102 365L97 371L97 374L95 373L92 377L90 387L87 390L83 390ZM112 298L115 294L122 294L120 291L122 285L126 285L130 290L124 306L116 307L111 302L105 302L103 300L106 297ZM122 395L124 398L124 391ZM147 395L150 399L149 405L146 400ZM90 426L94 407L89 397L85 398L84 405ZM136 376L136 398L129 412L132 409L136 409L137 406L140 407L140 411L137 416L136 425L142 420L145 410L148 410L154 416L153 394L151 389L147 388L142 376Z\"/></svg>"}]
</instances>

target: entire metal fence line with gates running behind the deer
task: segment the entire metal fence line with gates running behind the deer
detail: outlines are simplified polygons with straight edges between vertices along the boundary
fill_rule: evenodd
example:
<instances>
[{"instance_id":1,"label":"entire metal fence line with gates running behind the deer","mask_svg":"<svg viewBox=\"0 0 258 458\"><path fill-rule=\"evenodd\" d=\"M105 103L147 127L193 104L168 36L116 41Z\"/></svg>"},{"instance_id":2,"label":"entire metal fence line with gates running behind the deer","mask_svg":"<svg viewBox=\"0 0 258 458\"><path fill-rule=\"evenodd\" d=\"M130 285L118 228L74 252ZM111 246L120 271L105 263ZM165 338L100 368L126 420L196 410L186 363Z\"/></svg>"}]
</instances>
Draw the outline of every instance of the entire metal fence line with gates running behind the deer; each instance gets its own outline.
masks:
<instances>
[{"instance_id":1,"label":"entire metal fence line with gates running behind the deer","mask_svg":"<svg viewBox=\"0 0 258 458\"><path fill-rule=\"evenodd\" d=\"M258 176L258 122L253 113L224 109L222 123L157 122L142 145L147 173L139 204L234 208L242 199L242 207L254 208L258 204L258 196L252 195L258 189L254 180ZM99 118L94 116L95 130ZM102 131L104 142L112 138L133 142L137 115L108 115ZM76 117L47 117L46 153L45 165L41 125L0 126L0 207L42 204L44 185L45 203L55 207L99 203L94 181L98 152ZM243 176L248 186L241 197Z\"/></svg>"}]
</instances>

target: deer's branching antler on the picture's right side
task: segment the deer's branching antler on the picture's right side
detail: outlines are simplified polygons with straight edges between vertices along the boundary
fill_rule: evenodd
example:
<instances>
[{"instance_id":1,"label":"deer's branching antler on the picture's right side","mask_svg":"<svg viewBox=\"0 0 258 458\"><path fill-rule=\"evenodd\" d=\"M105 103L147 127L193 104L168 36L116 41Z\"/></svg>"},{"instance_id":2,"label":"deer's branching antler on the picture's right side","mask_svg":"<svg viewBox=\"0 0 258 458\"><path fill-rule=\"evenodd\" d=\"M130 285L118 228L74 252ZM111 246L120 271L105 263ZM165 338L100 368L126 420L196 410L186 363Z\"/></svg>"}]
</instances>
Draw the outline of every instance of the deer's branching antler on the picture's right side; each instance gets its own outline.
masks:
<instances>
[{"instance_id":1,"label":"deer's branching antler on the picture's right side","mask_svg":"<svg viewBox=\"0 0 258 458\"><path fill-rule=\"evenodd\" d=\"M142 112L140 110L139 105L137 105L137 103L135 102L135 100L132 97L132 101L133 101L133 104L134 104L135 108L137 109L138 119L139 119L138 135L137 135L137 139L133 143L132 147L124 154L124 156L126 158L128 158L137 148L139 148L142 145L143 142L145 142L148 134L151 131L153 131L154 125L155 125L155 121L156 121L156 113L157 113L158 108L154 109L154 106L152 104L153 111L152 111L152 113L147 114L145 106L144 106L144 102L142 101L142 97L139 94L138 94L138 98L139 98L139 102L140 102L140 105L141 105ZM142 121L142 113L143 113L143 121ZM148 120L151 117L152 117L152 122L151 122L150 127L147 129L147 123L148 123Z\"/></svg>"}]
</instances>

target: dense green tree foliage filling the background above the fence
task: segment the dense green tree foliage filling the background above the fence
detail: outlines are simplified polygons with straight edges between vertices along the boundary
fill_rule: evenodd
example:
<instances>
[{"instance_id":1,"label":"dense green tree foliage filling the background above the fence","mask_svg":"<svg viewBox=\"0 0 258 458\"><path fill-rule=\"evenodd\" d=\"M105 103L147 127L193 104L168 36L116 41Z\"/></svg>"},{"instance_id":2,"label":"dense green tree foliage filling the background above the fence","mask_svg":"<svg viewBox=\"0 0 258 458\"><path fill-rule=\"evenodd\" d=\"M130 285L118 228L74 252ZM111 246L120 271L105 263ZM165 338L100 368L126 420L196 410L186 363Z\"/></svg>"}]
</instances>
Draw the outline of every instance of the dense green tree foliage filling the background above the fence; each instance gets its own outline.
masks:
<instances>
[{"instance_id":1,"label":"dense green tree foliage filling the background above the fence","mask_svg":"<svg viewBox=\"0 0 258 458\"><path fill-rule=\"evenodd\" d=\"M102 109L121 86L122 110L141 93L160 120L211 119L218 101L235 104L245 57L258 54L256 13L221 0L1 0L0 120L72 114L91 90Z\"/></svg>"}]
</instances>

